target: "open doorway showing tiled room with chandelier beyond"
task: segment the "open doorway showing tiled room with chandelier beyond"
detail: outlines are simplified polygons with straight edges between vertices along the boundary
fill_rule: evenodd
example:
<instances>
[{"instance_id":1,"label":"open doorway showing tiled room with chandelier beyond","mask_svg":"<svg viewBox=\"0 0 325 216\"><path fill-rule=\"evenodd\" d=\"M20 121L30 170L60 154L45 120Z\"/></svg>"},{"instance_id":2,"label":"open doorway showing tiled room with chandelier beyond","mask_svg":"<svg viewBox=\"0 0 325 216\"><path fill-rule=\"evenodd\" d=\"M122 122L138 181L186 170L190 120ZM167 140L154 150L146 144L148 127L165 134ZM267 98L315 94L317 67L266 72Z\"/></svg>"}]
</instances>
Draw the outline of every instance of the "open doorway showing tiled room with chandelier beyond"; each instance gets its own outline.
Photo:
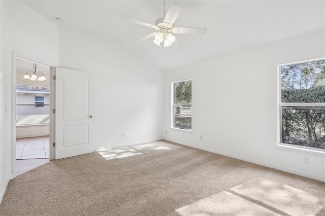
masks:
<instances>
[{"instance_id":1,"label":"open doorway showing tiled room with chandelier beyond","mask_svg":"<svg viewBox=\"0 0 325 216\"><path fill-rule=\"evenodd\" d=\"M16 174L50 158L50 67L16 59Z\"/></svg>"}]
</instances>

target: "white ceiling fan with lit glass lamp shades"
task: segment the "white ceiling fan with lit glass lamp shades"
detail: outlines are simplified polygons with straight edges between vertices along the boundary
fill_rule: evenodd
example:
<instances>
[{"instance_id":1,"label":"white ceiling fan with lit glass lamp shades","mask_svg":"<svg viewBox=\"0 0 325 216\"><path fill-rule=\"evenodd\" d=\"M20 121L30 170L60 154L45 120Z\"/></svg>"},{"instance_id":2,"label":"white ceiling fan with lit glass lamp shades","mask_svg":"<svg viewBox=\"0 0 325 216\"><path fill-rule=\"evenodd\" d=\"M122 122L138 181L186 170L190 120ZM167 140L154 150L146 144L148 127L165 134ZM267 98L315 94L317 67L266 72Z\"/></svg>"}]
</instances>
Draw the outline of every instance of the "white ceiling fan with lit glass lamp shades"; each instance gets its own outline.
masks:
<instances>
[{"instance_id":1,"label":"white ceiling fan with lit glass lamp shades","mask_svg":"<svg viewBox=\"0 0 325 216\"><path fill-rule=\"evenodd\" d=\"M159 18L156 20L155 24L150 24L140 20L136 20L129 17L123 17L124 20L131 21L140 25L144 25L150 28L154 28L156 31L152 32L145 37L137 40L137 42L145 41L154 37L153 43L160 47L160 44L163 43L164 47L171 46L176 37L175 34L205 34L207 32L206 28L189 28L189 27L174 27L173 24L177 19L178 15L181 12L181 7L175 4L172 4L168 9L165 16L165 1L164 1L164 16L165 18Z\"/></svg>"}]
</instances>

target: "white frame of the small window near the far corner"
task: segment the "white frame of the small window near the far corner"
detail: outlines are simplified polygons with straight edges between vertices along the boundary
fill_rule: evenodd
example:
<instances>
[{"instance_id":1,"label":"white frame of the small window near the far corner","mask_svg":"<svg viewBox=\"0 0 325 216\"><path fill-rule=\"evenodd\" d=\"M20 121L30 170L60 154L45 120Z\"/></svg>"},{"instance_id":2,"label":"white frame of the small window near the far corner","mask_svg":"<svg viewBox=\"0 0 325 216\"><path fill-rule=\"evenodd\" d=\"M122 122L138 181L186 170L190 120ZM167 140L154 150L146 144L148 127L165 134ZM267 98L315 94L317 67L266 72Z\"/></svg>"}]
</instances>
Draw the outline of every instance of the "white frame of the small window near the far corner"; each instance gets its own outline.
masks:
<instances>
[{"instance_id":1,"label":"white frame of the small window near the far corner","mask_svg":"<svg viewBox=\"0 0 325 216\"><path fill-rule=\"evenodd\" d=\"M175 127L175 117L176 117L175 107L176 106L180 106L180 105L188 106L188 105L190 105L190 107L191 107L190 113L191 113L191 118L192 118L192 103L175 103L175 83L182 83L182 82L186 82L186 81L191 81L191 83L192 83L192 79L176 81L176 82L171 83L171 128L175 129L175 130L181 130L181 131L184 131L184 132L190 132L191 133L192 132L192 122L191 122L191 129ZM192 90L191 90L191 94L192 94Z\"/></svg>"}]
</instances>

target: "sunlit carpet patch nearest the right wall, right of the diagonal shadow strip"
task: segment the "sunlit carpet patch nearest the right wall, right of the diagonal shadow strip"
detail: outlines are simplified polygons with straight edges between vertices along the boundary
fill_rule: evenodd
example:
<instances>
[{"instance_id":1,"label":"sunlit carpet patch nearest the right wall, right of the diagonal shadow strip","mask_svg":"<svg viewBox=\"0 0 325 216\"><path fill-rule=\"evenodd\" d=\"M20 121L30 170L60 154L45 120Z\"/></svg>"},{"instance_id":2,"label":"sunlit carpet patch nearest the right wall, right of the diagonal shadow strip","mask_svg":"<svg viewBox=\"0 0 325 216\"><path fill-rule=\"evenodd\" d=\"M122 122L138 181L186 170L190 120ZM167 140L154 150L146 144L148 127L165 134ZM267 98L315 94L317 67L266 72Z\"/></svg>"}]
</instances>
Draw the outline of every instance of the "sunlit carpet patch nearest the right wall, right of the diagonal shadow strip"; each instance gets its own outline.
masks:
<instances>
[{"instance_id":1,"label":"sunlit carpet patch nearest the right wall, right of the diagonal shadow strip","mask_svg":"<svg viewBox=\"0 0 325 216\"><path fill-rule=\"evenodd\" d=\"M256 178L230 190L291 215L315 215L325 200L267 178Z\"/></svg>"}]
</instances>

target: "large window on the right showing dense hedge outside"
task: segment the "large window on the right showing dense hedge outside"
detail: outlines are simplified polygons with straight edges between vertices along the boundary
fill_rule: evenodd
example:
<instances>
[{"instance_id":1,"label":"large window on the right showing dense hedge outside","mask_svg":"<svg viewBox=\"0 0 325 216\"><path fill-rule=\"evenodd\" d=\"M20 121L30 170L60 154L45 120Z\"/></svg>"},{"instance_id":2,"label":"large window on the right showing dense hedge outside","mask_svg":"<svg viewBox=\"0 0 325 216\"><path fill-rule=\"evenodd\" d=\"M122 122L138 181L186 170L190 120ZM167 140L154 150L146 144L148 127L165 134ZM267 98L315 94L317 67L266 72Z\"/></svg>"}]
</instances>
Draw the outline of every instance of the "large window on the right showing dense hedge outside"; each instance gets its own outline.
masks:
<instances>
[{"instance_id":1,"label":"large window on the right showing dense hedge outside","mask_svg":"<svg viewBox=\"0 0 325 216\"><path fill-rule=\"evenodd\" d=\"M279 142L325 150L325 59L279 66Z\"/></svg>"}]
</instances>

